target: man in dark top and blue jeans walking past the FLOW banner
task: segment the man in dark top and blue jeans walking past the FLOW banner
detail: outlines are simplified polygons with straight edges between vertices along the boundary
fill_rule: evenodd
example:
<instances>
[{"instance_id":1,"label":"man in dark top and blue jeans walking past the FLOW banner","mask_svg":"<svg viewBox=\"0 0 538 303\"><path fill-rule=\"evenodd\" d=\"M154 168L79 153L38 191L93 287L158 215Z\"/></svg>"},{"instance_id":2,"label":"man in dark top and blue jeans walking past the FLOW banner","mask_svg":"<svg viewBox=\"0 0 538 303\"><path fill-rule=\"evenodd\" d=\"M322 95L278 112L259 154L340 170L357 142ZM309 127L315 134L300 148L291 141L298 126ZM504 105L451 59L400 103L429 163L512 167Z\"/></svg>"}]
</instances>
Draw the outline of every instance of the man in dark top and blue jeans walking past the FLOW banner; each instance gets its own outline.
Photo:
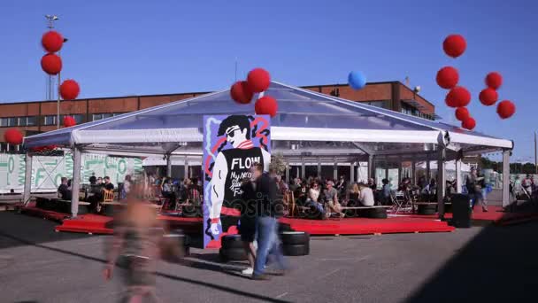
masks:
<instances>
[{"instance_id":1,"label":"man in dark top and blue jeans walking past the FLOW banner","mask_svg":"<svg viewBox=\"0 0 538 303\"><path fill-rule=\"evenodd\" d=\"M277 233L277 218L281 217L283 207L281 201L277 200L276 182L269 174L264 173L262 164L253 165L252 176L257 197L257 252L252 279L265 280L265 263L269 254L274 256L279 269L287 269Z\"/></svg>"}]
</instances>

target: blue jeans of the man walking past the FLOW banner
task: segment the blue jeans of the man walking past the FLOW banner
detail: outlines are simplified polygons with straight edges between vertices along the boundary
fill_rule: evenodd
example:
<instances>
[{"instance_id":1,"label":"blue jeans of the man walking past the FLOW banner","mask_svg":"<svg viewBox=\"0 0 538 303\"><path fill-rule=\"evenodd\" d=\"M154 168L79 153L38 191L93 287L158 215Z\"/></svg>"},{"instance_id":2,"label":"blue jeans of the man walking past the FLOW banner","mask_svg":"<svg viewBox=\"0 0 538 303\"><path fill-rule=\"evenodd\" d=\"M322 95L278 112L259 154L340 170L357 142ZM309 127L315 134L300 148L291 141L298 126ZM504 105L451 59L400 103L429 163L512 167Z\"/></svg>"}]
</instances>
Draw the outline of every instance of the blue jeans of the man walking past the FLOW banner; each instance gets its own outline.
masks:
<instances>
[{"instance_id":1,"label":"blue jeans of the man walking past the FLOW banner","mask_svg":"<svg viewBox=\"0 0 538 303\"><path fill-rule=\"evenodd\" d=\"M254 263L254 275L259 276L265 273L265 263L267 257L273 254L277 266L286 269L284 256L279 247L279 237L277 234L278 222L273 217L263 216L257 218L257 252Z\"/></svg>"}]
</instances>

